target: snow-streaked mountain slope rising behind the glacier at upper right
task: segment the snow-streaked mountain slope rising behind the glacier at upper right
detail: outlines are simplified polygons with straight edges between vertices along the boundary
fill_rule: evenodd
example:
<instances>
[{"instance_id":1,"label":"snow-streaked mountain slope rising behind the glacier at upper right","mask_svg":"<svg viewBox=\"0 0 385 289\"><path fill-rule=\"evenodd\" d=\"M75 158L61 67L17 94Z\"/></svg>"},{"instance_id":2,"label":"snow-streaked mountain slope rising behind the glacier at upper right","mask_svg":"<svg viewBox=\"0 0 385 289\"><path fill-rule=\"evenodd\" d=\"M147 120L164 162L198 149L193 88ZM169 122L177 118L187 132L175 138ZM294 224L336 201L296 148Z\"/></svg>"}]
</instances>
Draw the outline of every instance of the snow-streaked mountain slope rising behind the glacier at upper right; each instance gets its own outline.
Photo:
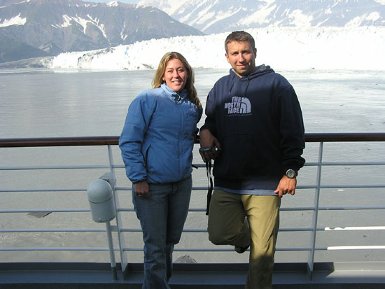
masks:
<instances>
[{"instance_id":1,"label":"snow-streaked mountain slope rising behind the glacier at upper right","mask_svg":"<svg viewBox=\"0 0 385 289\"><path fill-rule=\"evenodd\" d=\"M260 27L385 26L385 0L141 0L205 34Z\"/></svg>"}]
</instances>

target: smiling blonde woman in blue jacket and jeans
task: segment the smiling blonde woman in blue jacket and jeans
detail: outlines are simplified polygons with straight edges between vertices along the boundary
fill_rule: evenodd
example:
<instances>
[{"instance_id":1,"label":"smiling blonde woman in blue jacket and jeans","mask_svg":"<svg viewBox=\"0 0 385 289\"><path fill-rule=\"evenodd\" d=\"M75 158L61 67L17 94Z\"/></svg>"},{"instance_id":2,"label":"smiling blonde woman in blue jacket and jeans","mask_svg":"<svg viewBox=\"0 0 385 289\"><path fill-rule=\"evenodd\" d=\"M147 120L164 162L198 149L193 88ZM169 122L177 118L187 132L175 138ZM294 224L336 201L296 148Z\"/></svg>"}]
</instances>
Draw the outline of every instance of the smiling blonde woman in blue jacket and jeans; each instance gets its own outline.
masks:
<instances>
[{"instance_id":1,"label":"smiling blonde woman in blue jacket and jeans","mask_svg":"<svg viewBox=\"0 0 385 289\"><path fill-rule=\"evenodd\" d=\"M146 289L169 288L172 252L188 213L194 138L201 116L193 69L178 52L166 53L153 89L132 101L119 140L143 230Z\"/></svg>"}]
</instances>

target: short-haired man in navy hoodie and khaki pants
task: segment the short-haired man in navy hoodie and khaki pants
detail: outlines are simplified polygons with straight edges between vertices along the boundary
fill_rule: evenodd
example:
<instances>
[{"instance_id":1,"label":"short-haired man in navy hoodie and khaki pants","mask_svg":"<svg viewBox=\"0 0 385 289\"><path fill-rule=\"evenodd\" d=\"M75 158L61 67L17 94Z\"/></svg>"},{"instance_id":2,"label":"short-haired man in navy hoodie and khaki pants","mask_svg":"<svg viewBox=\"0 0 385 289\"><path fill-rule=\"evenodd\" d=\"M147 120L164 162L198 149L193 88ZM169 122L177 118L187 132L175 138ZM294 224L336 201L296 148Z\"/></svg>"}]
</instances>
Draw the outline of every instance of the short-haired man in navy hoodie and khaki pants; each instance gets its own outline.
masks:
<instances>
[{"instance_id":1,"label":"short-haired man in navy hoodie and khaki pants","mask_svg":"<svg viewBox=\"0 0 385 289\"><path fill-rule=\"evenodd\" d=\"M283 76L255 66L250 34L232 32L225 50L232 69L209 92L200 129L202 159L215 160L209 239L238 253L250 246L246 288L272 288L281 197L294 195L304 164L302 112Z\"/></svg>"}]
</instances>

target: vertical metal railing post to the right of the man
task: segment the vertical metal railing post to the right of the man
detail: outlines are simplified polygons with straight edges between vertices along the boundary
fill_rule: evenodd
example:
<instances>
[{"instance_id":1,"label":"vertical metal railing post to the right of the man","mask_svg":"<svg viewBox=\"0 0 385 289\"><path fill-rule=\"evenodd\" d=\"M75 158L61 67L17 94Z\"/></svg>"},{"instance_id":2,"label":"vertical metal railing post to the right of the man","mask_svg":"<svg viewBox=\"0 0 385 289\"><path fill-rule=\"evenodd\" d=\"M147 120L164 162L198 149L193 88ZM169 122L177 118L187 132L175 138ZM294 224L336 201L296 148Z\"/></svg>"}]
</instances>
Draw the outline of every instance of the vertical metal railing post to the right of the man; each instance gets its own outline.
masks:
<instances>
[{"instance_id":1,"label":"vertical metal railing post to the right of the man","mask_svg":"<svg viewBox=\"0 0 385 289\"><path fill-rule=\"evenodd\" d=\"M313 278L314 254L316 251L315 248L316 248L316 232L317 232L317 221L318 221L318 205L319 205L319 195L321 191L322 155L323 155L323 141L319 143L316 191L314 192L314 211L313 211L313 218L311 223L310 251L307 256L307 276L309 280Z\"/></svg>"}]
</instances>

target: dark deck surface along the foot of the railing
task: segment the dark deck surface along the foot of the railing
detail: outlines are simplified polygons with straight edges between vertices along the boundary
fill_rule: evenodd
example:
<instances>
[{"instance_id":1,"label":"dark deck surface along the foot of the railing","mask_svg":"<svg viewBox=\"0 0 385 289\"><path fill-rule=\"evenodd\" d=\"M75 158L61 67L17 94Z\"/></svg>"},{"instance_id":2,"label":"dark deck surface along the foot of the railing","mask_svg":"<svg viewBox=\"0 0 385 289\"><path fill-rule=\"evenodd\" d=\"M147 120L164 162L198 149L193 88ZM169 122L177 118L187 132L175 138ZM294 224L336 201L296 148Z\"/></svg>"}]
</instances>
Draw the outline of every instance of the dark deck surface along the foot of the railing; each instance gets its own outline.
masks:
<instances>
[{"instance_id":1,"label":"dark deck surface along the foot of the railing","mask_svg":"<svg viewBox=\"0 0 385 289\"><path fill-rule=\"evenodd\" d=\"M109 264L1 263L0 288L141 288L142 266L133 264L113 280ZM244 288L246 264L176 264L170 286L181 288ZM276 264L274 288L385 288L384 262L320 263L309 280L305 264Z\"/></svg>"}]
</instances>

